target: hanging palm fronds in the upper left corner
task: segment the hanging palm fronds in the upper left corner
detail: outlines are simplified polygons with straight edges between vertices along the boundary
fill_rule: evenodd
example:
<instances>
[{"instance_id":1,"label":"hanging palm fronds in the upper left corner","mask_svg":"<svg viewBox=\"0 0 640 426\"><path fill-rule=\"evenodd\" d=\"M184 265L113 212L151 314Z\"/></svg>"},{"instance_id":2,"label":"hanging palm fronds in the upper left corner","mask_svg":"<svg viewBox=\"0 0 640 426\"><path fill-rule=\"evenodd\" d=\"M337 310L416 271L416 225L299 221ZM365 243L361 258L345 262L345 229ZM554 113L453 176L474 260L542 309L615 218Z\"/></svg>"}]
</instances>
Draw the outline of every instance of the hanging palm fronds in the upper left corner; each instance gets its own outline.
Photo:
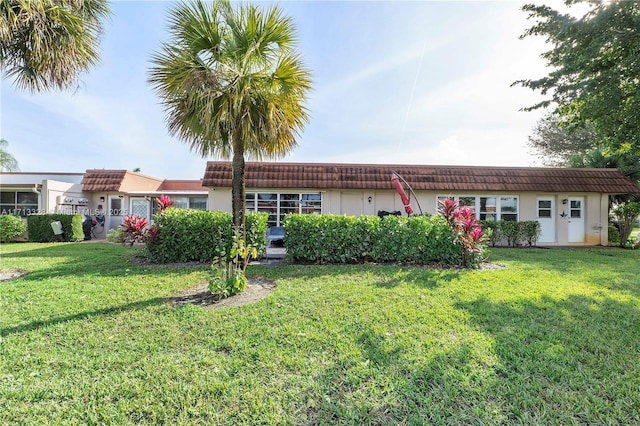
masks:
<instances>
[{"instance_id":1,"label":"hanging palm fronds in the upper left corner","mask_svg":"<svg viewBox=\"0 0 640 426\"><path fill-rule=\"evenodd\" d=\"M107 0L0 1L0 69L31 92L68 89L98 58Z\"/></svg>"}]
</instances>

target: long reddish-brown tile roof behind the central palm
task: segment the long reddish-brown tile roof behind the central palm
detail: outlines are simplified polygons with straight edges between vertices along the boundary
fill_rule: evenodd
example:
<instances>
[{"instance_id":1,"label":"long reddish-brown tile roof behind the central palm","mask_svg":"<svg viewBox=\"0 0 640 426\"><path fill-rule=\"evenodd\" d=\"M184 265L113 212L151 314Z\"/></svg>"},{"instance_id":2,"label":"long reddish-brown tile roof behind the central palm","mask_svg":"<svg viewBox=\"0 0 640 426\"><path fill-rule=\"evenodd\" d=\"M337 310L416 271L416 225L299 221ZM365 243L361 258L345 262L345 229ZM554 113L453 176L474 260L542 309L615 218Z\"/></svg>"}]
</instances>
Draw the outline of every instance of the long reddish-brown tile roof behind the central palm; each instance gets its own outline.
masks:
<instances>
[{"instance_id":1,"label":"long reddish-brown tile roof behind the central palm","mask_svg":"<svg viewBox=\"0 0 640 426\"><path fill-rule=\"evenodd\" d=\"M414 190L640 192L616 169L247 162L245 178L247 188L393 189L392 171ZM231 187L231 163L208 162L203 185Z\"/></svg>"}]
</instances>

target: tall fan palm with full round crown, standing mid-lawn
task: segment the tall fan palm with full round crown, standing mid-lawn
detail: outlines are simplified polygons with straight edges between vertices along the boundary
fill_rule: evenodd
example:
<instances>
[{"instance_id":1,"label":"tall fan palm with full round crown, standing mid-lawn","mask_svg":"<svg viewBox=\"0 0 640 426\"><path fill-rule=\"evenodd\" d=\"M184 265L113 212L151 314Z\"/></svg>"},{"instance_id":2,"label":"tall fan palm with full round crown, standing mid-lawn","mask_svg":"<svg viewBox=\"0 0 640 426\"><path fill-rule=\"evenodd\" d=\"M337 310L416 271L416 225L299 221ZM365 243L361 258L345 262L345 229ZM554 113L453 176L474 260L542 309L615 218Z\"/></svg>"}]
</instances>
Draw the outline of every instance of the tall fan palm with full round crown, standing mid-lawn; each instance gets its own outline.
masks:
<instances>
[{"instance_id":1,"label":"tall fan palm with full round crown, standing mid-lawn","mask_svg":"<svg viewBox=\"0 0 640 426\"><path fill-rule=\"evenodd\" d=\"M291 18L277 6L195 0L170 12L171 39L152 56L149 83L169 132L202 157L232 158L233 225L245 231L245 156L275 158L307 121L309 71Z\"/></svg>"}]
</instances>

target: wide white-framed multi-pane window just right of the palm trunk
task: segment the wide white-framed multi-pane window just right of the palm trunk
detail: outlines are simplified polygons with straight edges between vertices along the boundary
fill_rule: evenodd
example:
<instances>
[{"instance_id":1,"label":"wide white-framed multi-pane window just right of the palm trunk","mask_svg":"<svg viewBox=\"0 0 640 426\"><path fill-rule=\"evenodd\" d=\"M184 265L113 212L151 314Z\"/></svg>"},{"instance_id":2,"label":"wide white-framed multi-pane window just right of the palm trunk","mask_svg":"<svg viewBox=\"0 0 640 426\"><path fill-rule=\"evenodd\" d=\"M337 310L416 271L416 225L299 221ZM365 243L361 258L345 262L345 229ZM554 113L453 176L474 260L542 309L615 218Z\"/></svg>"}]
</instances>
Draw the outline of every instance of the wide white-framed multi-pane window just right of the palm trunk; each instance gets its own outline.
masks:
<instances>
[{"instance_id":1,"label":"wide white-framed multi-pane window just right of the palm trunk","mask_svg":"<svg viewBox=\"0 0 640 426\"><path fill-rule=\"evenodd\" d=\"M267 226L282 226L288 214L320 214L322 195L319 193L266 193L247 192L245 196L247 212L269 214Z\"/></svg>"}]
</instances>

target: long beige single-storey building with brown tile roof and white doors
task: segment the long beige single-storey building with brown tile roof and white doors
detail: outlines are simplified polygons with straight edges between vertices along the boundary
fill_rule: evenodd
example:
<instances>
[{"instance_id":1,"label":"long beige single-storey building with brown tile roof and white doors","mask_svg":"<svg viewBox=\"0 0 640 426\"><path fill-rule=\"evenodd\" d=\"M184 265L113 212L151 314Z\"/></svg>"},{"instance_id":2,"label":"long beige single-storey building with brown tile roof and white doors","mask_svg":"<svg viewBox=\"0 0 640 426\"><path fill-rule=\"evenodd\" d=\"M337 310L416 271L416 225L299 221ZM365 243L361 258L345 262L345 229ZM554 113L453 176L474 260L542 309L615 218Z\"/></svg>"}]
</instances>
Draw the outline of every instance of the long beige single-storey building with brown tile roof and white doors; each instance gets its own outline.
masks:
<instances>
[{"instance_id":1,"label":"long beige single-storey building with brown tile roof and white doors","mask_svg":"<svg viewBox=\"0 0 640 426\"><path fill-rule=\"evenodd\" d=\"M415 192L416 212L435 214L456 198L484 220L537 220L540 245L606 245L609 195L640 189L616 169L251 163L245 165L248 211L280 225L289 213L376 215L404 211L391 182L397 172ZM209 162L209 208L231 211L231 163Z\"/></svg>"}]
</instances>

